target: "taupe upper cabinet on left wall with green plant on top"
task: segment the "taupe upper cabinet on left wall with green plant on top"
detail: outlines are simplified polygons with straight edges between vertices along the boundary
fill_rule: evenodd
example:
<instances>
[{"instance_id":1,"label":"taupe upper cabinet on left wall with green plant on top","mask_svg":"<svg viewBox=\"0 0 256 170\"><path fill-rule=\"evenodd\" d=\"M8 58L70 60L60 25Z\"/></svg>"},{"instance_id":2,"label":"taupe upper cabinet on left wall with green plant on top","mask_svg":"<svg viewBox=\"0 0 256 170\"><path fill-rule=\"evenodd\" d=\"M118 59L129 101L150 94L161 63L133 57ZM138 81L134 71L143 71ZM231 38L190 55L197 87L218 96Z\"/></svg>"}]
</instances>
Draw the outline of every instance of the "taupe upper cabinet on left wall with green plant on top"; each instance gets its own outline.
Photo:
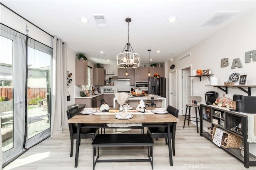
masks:
<instances>
[{"instance_id":1,"label":"taupe upper cabinet on left wall with green plant on top","mask_svg":"<svg viewBox=\"0 0 256 170\"><path fill-rule=\"evenodd\" d=\"M88 84L87 67L87 61L76 59L76 86Z\"/></svg>"}]
</instances>

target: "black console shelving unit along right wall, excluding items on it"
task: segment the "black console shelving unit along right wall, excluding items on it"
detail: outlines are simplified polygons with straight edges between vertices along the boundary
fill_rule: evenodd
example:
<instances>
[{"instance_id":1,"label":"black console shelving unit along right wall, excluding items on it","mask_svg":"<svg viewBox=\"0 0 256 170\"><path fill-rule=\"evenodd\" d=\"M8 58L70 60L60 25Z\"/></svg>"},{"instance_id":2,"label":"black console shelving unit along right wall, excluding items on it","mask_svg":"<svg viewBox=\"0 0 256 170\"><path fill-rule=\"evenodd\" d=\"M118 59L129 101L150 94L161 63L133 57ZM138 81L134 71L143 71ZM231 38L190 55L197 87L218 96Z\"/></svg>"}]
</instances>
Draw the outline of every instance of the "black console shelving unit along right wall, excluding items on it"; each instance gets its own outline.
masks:
<instances>
[{"instance_id":1,"label":"black console shelving unit along right wall, excluding items on it","mask_svg":"<svg viewBox=\"0 0 256 170\"><path fill-rule=\"evenodd\" d=\"M202 116L206 113L206 109L210 109L210 121L208 119L204 119ZM220 117L218 117L218 114L216 113L220 113ZM209 135L206 131L203 131L203 122L206 121L210 122L212 124L212 127L219 127L221 129L224 129L225 131L242 137L244 144L244 157L241 156L241 150L239 148L224 148L222 146L220 148L224 149L226 152L230 153L234 157L244 162L244 167L246 168L249 168L250 165L256 165L256 156L249 153L249 144L247 142L247 115L230 111L229 109L223 107L200 104L200 119L200 136L206 137L207 139L212 141L212 136ZM212 119L224 121L224 127L220 125L220 121L218 121L218 124L216 124L212 122ZM232 131L231 128L238 125L239 123L241 123L241 128L239 128L238 131Z\"/></svg>"}]
</instances>

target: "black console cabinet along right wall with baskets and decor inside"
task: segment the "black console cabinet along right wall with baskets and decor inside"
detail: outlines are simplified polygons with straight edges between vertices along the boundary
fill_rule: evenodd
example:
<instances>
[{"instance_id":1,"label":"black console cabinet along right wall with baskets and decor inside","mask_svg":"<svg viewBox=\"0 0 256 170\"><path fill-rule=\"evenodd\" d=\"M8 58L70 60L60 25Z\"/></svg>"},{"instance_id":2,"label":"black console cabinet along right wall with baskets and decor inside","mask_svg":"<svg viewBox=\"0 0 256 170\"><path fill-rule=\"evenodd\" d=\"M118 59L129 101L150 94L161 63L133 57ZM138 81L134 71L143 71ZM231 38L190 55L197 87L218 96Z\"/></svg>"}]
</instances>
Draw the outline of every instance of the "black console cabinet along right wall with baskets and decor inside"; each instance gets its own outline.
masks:
<instances>
[{"instance_id":1,"label":"black console cabinet along right wall with baskets and decor inside","mask_svg":"<svg viewBox=\"0 0 256 170\"><path fill-rule=\"evenodd\" d=\"M249 165L256 165L256 156L249 152L249 144L247 142L249 116L253 117L254 115L245 115L218 106L200 104L200 136L204 136L210 141L213 140L212 135L203 131L204 122L208 122L212 127L217 127L230 133L233 135L231 141L236 139L232 141L232 146L236 148L227 147L230 141L223 137L220 148L244 162L244 167L249 168ZM244 147L243 156L241 155L241 149L239 147Z\"/></svg>"}]
</instances>

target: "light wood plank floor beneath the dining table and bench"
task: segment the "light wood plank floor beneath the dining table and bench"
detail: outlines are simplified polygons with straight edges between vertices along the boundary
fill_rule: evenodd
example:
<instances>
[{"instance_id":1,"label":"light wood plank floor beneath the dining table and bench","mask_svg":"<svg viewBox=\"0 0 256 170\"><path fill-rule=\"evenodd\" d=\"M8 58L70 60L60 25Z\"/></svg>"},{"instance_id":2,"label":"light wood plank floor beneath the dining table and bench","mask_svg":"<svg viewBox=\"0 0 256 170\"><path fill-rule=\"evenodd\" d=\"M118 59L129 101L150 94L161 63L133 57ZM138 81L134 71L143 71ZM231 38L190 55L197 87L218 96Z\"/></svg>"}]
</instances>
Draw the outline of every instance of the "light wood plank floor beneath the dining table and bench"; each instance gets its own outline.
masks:
<instances>
[{"instance_id":1,"label":"light wood plank floor beneath the dining table and bench","mask_svg":"<svg viewBox=\"0 0 256 170\"><path fill-rule=\"evenodd\" d=\"M168 145L164 139L154 139L154 170L242 170L243 162L220 149L208 139L196 133L191 124L182 128L184 116L176 129L174 166L169 165ZM114 133L107 129L107 133ZM140 133L140 129L117 129L116 133ZM74 141L76 143L76 141ZM82 139L79 152L79 164L74 168L74 156L70 158L70 135L62 134L50 137L32 147L4 170L92 170L92 140ZM74 145L75 150L75 145ZM75 155L75 151L74 151ZM100 149L100 158L147 158L147 147L105 147ZM255 170L256 166L249 169ZM151 170L149 162L98 162L95 170Z\"/></svg>"}]
</instances>

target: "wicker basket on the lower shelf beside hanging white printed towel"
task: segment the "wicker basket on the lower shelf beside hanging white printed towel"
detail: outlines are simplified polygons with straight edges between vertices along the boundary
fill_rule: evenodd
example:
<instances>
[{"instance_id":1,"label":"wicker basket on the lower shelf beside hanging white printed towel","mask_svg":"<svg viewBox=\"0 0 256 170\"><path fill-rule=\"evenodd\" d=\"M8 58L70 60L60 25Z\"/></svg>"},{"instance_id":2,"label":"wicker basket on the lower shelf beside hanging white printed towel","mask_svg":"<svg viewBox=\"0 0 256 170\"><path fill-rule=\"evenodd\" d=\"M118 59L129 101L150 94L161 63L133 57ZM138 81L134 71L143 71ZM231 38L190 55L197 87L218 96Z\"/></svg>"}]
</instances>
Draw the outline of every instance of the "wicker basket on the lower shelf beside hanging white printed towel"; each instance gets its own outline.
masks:
<instances>
[{"instance_id":1,"label":"wicker basket on the lower shelf beside hanging white printed towel","mask_svg":"<svg viewBox=\"0 0 256 170\"><path fill-rule=\"evenodd\" d=\"M216 127L212 130L212 139L214 138ZM242 137L234 135L233 133L224 132L222 136L221 146L224 148L239 148L242 143Z\"/></svg>"}]
</instances>

